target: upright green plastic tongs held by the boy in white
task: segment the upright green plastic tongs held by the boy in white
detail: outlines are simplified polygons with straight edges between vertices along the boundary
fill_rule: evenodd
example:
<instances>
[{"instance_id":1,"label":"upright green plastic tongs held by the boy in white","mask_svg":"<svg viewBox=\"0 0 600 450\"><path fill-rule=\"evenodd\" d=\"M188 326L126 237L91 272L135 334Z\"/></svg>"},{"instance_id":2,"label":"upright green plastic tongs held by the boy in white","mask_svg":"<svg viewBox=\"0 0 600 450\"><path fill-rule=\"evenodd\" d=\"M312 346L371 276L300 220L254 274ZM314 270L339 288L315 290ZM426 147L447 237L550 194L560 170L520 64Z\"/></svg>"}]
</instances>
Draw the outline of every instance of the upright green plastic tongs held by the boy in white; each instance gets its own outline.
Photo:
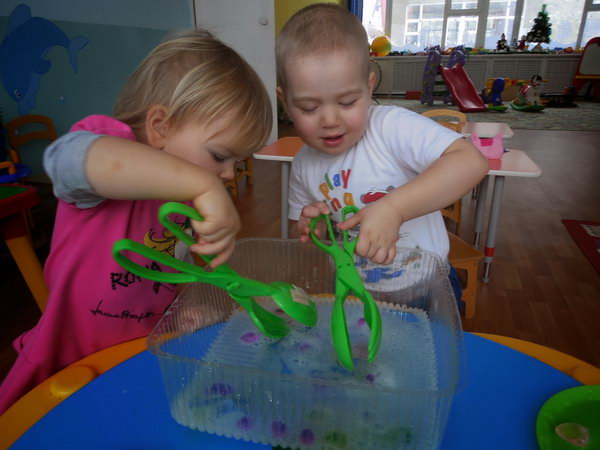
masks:
<instances>
[{"instance_id":1,"label":"upright green plastic tongs held by the boy in white","mask_svg":"<svg viewBox=\"0 0 600 450\"><path fill-rule=\"evenodd\" d=\"M346 206L342 209L342 221L346 220L348 214L356 214L359 209L356 206ZM321 221L325 220L331 245L326 245L319 240L315 234L315 227ZM354 250L358 239L350 240L348 231L343 231L342 247L335 239L333 227L329 215L321 214L310 222L310 237L313 242L326 253L333 257L335 263L335 303L331 313L331 339L333 347L340 363L349 370L354 369L352 361L352 346L348 336L348 325L346 323L346 313L344 312L344 302L350 294L354 295L363 302L365 322L371 330L368 347L368 361L372 362L381 345L381 315L375 300L365 288L360 278L360 274L354 265Z\"/></svg>"}]
</instances>

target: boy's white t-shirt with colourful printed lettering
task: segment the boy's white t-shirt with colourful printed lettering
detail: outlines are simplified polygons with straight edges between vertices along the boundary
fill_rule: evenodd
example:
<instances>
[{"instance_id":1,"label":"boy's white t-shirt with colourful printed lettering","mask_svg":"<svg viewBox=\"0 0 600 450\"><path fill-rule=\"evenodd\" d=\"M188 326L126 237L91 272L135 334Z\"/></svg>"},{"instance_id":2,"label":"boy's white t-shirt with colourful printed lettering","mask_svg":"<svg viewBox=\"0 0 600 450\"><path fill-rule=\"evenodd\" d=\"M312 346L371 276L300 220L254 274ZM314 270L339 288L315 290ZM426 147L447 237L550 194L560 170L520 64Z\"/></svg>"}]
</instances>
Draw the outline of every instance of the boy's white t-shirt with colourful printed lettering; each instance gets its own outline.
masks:
<instances>
[{"instance_id":1,"label":"boy's white t-shirt with colourful printed lettering","mask_svg":"<svg viewBox=\"0 0 600 450\"><path fill-rule=\"evenodd\" d=\"M396 106L371 106L363 137L341 155L304 145L294 158L289 189L289 218L325 201L332 219L349 204L363 208L427 169L461 135L431 119ZM429 250L448 261L448 234L439 211L400 227L399 247ZM395 262L396 264L396 262Z\"/></svg>"}]
</instances>

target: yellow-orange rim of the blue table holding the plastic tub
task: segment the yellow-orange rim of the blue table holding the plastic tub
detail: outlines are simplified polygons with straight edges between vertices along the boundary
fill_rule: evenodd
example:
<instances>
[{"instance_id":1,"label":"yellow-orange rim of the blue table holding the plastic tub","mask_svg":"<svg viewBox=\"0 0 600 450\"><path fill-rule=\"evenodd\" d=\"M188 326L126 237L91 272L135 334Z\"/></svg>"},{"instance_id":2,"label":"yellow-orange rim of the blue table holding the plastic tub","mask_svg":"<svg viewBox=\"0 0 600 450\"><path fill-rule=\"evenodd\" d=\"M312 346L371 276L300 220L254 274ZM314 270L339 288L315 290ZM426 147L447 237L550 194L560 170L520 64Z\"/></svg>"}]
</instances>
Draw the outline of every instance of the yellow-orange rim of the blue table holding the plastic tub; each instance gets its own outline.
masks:
<instances>
[{"instance_id":1,"label":"yellow-orange rim of the blue table holding the plastic tub","mask_svg":"<svg viewBox=\"0 0 600 450\"><path fill-rule=\"evenodd\" d=\"M600 369L566 353L507 336L472 333L529 355L583 384L600 384ZM0 416L0 448L8 448L52 408L96 376L146 349L138 338L101 350L61 370L32 389Z\"/></svg>"}]
</instances>

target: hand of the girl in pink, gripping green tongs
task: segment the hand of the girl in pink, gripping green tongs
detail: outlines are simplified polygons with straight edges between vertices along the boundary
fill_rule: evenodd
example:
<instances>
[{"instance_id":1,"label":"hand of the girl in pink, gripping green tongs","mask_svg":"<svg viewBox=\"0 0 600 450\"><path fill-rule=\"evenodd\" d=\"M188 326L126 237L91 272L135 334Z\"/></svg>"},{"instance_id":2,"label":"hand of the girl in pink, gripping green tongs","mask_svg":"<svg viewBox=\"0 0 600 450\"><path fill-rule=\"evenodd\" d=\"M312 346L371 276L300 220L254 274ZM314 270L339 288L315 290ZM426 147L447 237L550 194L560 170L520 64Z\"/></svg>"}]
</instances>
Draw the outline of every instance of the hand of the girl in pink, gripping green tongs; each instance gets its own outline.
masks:
<instances>
[{"instance_id":1,"label":"hand of the girl in pink, gripping green tongs","mask_svg":"<svg viewBox=\"0 0 600 450\"><path fill-rule=\"evenodd\" d=\"M217 267L227 261L233 252L235 236L241 228L240 217L225 188L210 190L192 203L204 221L192 220L198 243L190 249L200 255L215 255L210 266Z\"/></svg>"}]
</instances>

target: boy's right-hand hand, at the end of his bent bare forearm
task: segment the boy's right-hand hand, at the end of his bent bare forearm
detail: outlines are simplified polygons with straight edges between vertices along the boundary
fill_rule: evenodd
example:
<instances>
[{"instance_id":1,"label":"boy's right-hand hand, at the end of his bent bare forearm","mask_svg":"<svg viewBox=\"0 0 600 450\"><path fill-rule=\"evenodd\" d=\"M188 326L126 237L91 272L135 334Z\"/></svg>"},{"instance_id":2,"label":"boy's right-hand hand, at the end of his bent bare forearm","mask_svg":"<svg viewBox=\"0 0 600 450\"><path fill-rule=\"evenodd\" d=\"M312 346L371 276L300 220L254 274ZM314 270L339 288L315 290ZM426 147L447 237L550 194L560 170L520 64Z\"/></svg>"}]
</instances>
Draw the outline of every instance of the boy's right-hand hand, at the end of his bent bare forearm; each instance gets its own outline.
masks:
<instances>
[{"instance_id":1,"label":"boy's right-hand hand, at the end of his bent bare forearm","mask_svg":"<svg viewBox=\"0 0 600 450\"><path fill-rule=\"evenodd\" d=\"M391 264L396 257L396 241L402 220L394 208L380 199L337 225L349 230L360 225L356 254L377 264Z\"/></svg>"}]
</instances>

